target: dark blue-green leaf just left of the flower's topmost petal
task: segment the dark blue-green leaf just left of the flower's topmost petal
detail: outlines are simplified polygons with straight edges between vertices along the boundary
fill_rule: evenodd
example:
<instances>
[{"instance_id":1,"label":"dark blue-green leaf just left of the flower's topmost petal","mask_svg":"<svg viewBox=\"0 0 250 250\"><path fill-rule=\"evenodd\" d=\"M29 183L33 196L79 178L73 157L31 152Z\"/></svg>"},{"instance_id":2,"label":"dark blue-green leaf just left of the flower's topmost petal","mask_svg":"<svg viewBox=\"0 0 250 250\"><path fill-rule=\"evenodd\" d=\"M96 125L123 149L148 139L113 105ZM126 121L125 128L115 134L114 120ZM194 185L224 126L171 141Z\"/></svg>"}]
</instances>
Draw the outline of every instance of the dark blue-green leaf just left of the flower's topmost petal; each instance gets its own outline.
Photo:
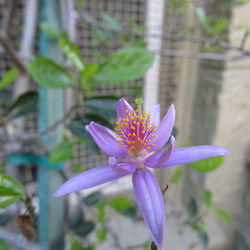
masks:
<instances>
[{"instance_id":1,"label":"dark blue-green leaf just left of the flower's topmost petal","mask_svg":"<svg viewBox=\"0 0 250 250\"><path fill-rule=\"evenodd\" d=\"M104 117L116 118L117 101L116 96L97 96L85 101L85 107Z\"/></svg>"}]
</instances>

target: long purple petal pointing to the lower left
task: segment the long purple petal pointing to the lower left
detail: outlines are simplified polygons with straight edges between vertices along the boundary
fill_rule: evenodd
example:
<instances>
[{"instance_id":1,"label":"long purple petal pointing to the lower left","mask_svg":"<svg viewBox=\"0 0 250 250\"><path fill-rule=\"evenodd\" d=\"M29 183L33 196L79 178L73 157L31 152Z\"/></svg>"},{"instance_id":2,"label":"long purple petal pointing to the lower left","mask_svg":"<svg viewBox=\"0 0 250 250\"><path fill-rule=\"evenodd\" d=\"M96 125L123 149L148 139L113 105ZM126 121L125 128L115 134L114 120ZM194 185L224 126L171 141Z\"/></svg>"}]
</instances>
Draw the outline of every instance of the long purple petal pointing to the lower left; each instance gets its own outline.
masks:
<instances>
[{"instance_id":1,"label":"long purple petal pointing to the lower left","mask_svg":"<svg viewBox=\"0 0 250 250\"><path fill-rule=\"evenodd\" d=\"M76 192L82 189L94 187L105 182L109 182L126 174L119 174L111 169L108 165L102 165L96 168L87 170L67 182L65 182L54 194L54 196L63 196L71 192Z\"/></svg>"}]
</instances>

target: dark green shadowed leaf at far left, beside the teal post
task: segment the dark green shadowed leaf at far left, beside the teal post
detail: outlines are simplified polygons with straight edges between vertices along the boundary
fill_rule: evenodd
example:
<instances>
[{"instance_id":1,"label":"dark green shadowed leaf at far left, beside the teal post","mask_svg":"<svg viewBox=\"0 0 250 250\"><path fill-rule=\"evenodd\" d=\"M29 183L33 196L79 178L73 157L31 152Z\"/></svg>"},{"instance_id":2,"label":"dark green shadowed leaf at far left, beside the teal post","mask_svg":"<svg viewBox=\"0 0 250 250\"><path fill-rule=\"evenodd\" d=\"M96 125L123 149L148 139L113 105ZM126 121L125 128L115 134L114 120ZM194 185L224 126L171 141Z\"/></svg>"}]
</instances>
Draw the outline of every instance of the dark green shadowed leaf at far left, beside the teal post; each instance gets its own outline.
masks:
<instances>
[{"instance_id":1,"label":"dark green shadowed leaf at far left, beside the teal post","mask_svg":"<svg viewBox=\"0 0 250 250\"><path fill-rule=\"evenodd\" d=\"M38 107L37 91L28 91L18 96L7 110L10 118L18 118L32 112L36 112Z\"/></svg>"}]
</instances>

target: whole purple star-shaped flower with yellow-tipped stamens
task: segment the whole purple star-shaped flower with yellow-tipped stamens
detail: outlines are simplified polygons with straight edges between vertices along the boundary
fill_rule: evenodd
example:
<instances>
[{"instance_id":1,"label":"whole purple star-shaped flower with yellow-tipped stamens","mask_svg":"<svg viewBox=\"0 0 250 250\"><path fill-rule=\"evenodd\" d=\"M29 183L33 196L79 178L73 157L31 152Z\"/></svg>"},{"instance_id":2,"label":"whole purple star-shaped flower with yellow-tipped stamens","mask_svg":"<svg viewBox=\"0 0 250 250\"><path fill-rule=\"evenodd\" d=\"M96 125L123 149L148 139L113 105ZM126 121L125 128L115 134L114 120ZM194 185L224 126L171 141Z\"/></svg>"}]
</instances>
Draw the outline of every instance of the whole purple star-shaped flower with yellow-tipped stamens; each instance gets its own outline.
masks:
<instances>
[{"instance_id":1,"label":"whole purple star-shaped flower with yellow-tipped stamens","mask_svg":"<svg viewBox=\"0 0 250 250\"><path fill-rule=\"evenodd\" d=\"M163 245L165 209L160 186L149 168L164 168L224 156L229 152L216 146L195 146L175 149L171 136L175 120L174 105L160 121L160 106L150 113L133 108L124 98L118 101L116 132L95 122L86 126L100 149L110 156L108 164L85 171L64 183L55 193L63 196L81 189L109 182L132 174L138 206L151 236L159 248ZM167 142L169 146L161 152ZM117 160L119 159L119 161Z\"/></svg>"}]
</instances>

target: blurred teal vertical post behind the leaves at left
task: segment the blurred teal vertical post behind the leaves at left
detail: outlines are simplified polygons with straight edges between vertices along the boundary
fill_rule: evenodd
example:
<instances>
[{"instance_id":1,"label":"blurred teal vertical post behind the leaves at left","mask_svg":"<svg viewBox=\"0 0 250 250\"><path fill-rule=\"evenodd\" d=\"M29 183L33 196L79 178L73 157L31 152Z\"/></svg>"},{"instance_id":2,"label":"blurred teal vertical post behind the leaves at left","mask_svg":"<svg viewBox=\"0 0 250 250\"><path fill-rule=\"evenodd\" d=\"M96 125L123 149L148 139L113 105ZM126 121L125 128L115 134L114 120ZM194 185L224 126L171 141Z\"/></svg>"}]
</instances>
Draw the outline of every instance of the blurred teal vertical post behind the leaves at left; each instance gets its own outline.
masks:
<instances>
[{"instance_id":1,"label":"blurred teal vertical post behind the leaves at left","mask_svg":"<svg viewBox=\"0 0 250 250\"><path fill-rule=\"evenodd\" d=\"M60 29L61 15L59 0L40 0L40 23L46 22ZM57 40L51 39L42 33L39 37L40 55L61 61ZM41 87L39 103L38 129L44 130L63 116L64 93L58 89ZM62 126L58 126L53 132L44 136L43 142L49 148L58 144L62 136ZM38 170L38 241L49 249L63 249L63 222L64 201L53 197L53 192L63 182L57 170L39 167Z\"/></svg>"}]
</instances>

